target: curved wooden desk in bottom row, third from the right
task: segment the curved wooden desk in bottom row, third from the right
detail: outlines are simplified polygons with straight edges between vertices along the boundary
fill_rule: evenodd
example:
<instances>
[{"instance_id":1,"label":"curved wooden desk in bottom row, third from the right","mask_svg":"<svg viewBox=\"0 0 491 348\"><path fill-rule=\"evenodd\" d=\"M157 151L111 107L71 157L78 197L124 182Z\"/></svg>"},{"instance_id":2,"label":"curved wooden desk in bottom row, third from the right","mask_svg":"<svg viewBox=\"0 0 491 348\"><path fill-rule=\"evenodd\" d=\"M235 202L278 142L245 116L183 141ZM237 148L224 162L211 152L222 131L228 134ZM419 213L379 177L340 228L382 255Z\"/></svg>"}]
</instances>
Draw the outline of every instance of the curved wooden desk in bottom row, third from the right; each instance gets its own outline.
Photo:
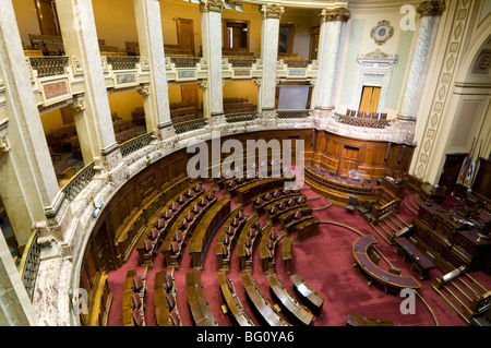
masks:
<instances>
[{"instance_id":1,"label":"curved wooden desk in bottom row, third from the right","mask_svg":"<svg viewBox=\"0 0 491 348\"><path fill-rule=\"evenodd\" d=\"M268 326L291 326L270 304L250 273L242 274L242 284L249 301L253 304L252 309L258 313L263 323Z\"/></svg>"}]
</instances>

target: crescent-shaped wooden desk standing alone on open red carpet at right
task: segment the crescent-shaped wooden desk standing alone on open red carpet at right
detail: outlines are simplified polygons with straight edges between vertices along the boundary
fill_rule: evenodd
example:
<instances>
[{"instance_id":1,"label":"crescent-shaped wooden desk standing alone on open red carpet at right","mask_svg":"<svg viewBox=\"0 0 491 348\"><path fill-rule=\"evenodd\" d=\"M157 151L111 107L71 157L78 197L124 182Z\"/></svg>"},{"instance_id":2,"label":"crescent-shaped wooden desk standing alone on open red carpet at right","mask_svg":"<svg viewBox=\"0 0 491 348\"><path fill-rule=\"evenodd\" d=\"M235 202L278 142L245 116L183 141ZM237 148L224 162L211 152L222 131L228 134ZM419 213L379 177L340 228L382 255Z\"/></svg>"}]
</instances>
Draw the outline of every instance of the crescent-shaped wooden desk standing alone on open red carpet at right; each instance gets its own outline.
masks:
<instances>
[{"instance_id":1,"label":"crescent-shaped wooden desk standing alone on open red carpet at right","mask_svg":"<svg viewBox=\"0 0 491 348\"><path fill-rule=\"evenodd\" d=\"M352 247L355 260L361 272L371 279L382 284L385 287L385 292L387 289L395 289L398 291L404 288L421 288L421 284L414 277L395 275L375 265L369 256L371 247L374 243L376 243L375 238L372 235L367 235L358 238Z\"/></svg>"}]
</instances>

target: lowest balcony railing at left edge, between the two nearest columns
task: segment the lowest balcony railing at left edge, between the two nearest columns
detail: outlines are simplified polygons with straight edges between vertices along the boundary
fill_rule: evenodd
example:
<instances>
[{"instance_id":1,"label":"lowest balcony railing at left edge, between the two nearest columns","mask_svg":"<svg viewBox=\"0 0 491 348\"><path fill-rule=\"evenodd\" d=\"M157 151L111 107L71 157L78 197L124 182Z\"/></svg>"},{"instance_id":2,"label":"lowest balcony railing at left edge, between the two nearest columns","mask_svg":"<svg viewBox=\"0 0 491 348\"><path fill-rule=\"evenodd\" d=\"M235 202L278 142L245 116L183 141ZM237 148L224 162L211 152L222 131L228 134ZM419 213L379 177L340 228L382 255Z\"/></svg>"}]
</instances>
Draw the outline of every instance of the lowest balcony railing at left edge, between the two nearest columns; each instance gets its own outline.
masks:
<instances>
[{"instance_id":1,"label":"lowest balcony railing at left edge, between the two nearest columns","mask_svg":"<svg viewBox=\"0 0 491 348\"><path fill-rule=\"evenodd\" d=\"M33 301L34 286L36 285L37 271L39 269L40 247L37 244L37 238L38 231L34 230L19 265L19 275L31 301Z\"/></svg>"}]
</instances>

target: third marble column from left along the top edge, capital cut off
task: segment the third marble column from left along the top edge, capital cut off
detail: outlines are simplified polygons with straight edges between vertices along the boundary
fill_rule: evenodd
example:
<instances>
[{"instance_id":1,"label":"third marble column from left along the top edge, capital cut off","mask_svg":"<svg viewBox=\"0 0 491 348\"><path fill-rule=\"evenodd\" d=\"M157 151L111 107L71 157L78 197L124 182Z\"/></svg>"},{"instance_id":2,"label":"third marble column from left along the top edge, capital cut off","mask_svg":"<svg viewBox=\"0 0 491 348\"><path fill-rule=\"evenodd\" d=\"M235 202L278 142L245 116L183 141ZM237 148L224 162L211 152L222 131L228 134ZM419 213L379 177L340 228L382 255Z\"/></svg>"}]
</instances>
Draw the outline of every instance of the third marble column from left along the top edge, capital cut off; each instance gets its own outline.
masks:
<instances>
[{"instance_id":1,"label":"third marble column from left along the top edge, capital cut off","mask_svg":"<svg viewBox=\"0 0 491 348\"><path fill-rule=\"evenodd\" d=\"M172 136L159 0L134 0L140 59L149 65L151 83L142 89L146 130L160 140Z\"/></svg>"}]
</instances>

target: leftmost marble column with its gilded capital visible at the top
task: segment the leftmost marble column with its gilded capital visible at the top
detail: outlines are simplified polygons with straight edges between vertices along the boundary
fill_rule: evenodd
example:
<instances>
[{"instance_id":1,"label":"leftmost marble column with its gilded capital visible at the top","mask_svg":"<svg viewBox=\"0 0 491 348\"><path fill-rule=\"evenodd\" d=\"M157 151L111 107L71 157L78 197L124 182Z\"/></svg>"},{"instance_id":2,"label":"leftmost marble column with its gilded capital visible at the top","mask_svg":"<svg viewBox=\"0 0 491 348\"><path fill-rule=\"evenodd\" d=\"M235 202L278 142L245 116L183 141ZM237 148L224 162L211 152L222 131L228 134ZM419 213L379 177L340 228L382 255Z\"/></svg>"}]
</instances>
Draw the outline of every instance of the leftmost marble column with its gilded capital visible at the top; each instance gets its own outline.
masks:
<instances>
[{"instance_id":1,"label":"leftmost marble column with its gilded capital visible at the top","mask_svg":"<svg viewBox=\"0 0 491 348\"><path fill-rule=\"evenodd\" d=\"M204 117L212 127L224 124L224 82L221 72L221 11L225 0L201 0L203 58L208 64L208 82L203 89Z\"/></svg>"}]
</instances>

